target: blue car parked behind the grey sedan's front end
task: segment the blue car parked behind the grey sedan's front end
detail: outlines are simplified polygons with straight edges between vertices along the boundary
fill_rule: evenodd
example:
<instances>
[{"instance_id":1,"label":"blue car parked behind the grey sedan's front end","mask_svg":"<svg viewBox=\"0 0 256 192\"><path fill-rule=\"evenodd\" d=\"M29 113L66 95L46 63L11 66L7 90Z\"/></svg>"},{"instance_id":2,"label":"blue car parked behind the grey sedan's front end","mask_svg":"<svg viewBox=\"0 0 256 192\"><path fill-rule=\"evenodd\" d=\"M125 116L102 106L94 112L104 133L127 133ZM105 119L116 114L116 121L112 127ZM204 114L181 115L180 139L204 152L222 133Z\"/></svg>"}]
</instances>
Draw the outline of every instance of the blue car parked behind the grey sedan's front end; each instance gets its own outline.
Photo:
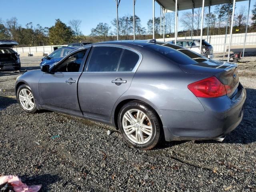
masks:
<instances>
[{"instance_id":1,"label":"blue car parked behind the grey sedan's front end","mask_svg":"<svg viewBox=\"0 0 256 192\"><path fill-rule=\"evenodd\" d=\"M40 66L48 64L52 65L58 61L60 61L63 57L65 57L70 51L75 49L76 47L62 47L58 48L54 52L52 52L49 56L45 56L42 58L42 62L40 63Z\"/></svg>"}]
</instances>

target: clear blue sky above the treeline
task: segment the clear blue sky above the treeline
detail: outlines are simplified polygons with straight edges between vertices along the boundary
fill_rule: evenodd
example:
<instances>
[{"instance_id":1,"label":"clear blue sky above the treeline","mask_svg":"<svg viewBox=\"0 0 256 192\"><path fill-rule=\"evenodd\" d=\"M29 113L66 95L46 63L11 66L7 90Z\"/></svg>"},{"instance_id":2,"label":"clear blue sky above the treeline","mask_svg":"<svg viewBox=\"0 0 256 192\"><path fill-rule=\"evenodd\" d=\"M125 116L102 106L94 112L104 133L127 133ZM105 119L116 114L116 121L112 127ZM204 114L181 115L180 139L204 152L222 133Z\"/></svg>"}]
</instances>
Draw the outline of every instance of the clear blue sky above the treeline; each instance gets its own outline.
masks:
<instances>
[{"instance_id":1,"label":"clear blue sky above the treeline","mask_svg":"<svg viewBox=\"0 0 256 192\"><path fill-rule=\"evenodd\" d=\"M251 0L250 10L255 2L256 0ZM238 11L241 6L248 8L248 0L237 2L236 10ZM40 24L43 27L50 27L58 18L66 24L72 19L82 20L81 31L84 35L89 35L91 28L95 28L100 22L109 24L111 30L114 30L111 20L116 18L114 0L8 0L4 1L1 7L0 18L2 20L5 21L15 16L23 27L29 22L32 22L34 26ZM211 10L214 10L214 6ZM186 11L191 12L191 10ZM179 15L182 12L184 11L180 11ZM133 0L121 0L118 14L119 17L133 15ZM135 14L140 17L142 26L147 27L148 20L152 18L152 0L137 0ZM155 16L160 16L160 6L157 2L155 3ZM179 24L178 30L182 29L182 25Z\"/></svg>"}]
</instances>

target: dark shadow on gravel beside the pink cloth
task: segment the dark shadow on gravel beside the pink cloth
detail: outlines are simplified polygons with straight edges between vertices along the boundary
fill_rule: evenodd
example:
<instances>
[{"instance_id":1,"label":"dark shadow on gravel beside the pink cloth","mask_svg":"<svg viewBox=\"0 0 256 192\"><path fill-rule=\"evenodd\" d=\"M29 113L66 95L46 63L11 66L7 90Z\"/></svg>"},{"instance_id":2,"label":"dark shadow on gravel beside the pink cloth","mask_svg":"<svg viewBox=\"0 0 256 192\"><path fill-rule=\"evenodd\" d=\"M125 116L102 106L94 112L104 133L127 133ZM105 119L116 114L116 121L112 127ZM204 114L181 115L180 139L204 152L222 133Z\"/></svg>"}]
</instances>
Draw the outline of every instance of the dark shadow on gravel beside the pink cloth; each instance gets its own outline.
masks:
<instances>
[{"instance_id":1,"label":"dark shadow on gravel beside the pink cloth","mask_svg":"<svg viewBox=\"0 0 256 192\"><path fill-rule=\"evenodd\" d=\"M60 180L58 175L51 175L51 174L42 174L42 175L35 175L35 176L20 176L22 182L26 183L27 185L42 185L40 191L50 191L51 187L50 184L56 183Z\"/></svg>"}]
</instances>

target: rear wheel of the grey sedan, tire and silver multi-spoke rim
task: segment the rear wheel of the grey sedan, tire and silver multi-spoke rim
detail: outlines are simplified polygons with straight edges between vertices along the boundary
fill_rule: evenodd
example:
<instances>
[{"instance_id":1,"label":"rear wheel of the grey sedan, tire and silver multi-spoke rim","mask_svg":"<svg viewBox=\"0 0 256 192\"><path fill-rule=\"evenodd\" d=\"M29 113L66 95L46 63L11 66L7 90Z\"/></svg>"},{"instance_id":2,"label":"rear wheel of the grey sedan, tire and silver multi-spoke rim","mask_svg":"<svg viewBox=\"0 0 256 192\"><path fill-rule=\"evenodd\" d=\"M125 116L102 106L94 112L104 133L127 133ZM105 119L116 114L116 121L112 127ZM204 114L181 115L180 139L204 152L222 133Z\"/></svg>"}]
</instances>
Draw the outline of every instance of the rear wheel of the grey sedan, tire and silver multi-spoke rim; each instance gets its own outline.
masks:
<instances>
[{"instance_id":1,"label":"rear wheel of the grey sedan, tire and silver multi-spoke rim","mask_svg":"<svg viewBox=\"0 0 256 192\"><path fill-rule=\"evenodd\" d=\"M128 144L142 150L154 148L162 136L156 112L141 101L131 101L122 106L118 114L118 128Z\"/></svg>"}]
</instances>

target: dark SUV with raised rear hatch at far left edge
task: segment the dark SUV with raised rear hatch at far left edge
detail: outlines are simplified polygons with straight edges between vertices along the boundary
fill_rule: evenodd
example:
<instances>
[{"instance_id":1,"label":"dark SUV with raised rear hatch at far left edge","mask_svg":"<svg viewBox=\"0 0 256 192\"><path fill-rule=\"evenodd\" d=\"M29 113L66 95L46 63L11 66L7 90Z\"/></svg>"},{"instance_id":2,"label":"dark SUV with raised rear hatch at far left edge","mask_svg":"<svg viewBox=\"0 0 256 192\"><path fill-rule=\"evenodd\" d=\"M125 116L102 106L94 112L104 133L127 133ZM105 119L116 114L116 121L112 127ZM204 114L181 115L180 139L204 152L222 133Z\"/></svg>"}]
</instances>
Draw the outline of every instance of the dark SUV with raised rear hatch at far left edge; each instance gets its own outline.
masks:
<instances>
[{"instance_id":1,"label":"dark SUV with raised rear hatch at far left edge","mask_svg":"<svg viewBox=\"0 0 256 192\"><path fill-rule=\"evenodd\" d=\"M20 70L20 57L12 48L18 45L16 41L0 40L0 70L14 68Z\"/></svg>"}]
</instances>

